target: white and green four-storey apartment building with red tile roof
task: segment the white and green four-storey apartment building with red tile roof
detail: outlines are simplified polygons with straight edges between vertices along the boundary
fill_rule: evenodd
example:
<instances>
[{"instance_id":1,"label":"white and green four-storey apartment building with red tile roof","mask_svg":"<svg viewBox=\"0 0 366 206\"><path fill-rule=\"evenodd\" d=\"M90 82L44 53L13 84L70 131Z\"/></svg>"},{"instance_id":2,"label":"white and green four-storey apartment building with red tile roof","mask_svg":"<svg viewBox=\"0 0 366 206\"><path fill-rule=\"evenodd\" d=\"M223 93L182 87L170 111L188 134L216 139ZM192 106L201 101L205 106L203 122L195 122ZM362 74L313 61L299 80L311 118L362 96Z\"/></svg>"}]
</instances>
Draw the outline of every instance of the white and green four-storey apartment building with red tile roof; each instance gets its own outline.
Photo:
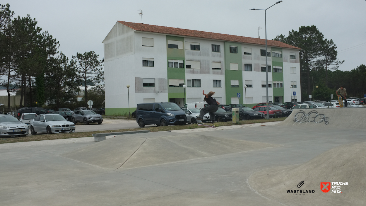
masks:
<instances>
[{"instance_id":1,"label":"white and green four-storey apartment building with red tile roof","mask_svg":"<svg viewBox=\"0 0 366 206\"><path fill-rule=\"evenodd\" d=\"M266 102L266 53L269 101L301 100L300 49L280 41L268 40L266 52L264 39L117 21L103 44L107 115L128 113L128 104L132 112L202 102L203 89L220 104Z\"/></svg>"}]
</instances>

